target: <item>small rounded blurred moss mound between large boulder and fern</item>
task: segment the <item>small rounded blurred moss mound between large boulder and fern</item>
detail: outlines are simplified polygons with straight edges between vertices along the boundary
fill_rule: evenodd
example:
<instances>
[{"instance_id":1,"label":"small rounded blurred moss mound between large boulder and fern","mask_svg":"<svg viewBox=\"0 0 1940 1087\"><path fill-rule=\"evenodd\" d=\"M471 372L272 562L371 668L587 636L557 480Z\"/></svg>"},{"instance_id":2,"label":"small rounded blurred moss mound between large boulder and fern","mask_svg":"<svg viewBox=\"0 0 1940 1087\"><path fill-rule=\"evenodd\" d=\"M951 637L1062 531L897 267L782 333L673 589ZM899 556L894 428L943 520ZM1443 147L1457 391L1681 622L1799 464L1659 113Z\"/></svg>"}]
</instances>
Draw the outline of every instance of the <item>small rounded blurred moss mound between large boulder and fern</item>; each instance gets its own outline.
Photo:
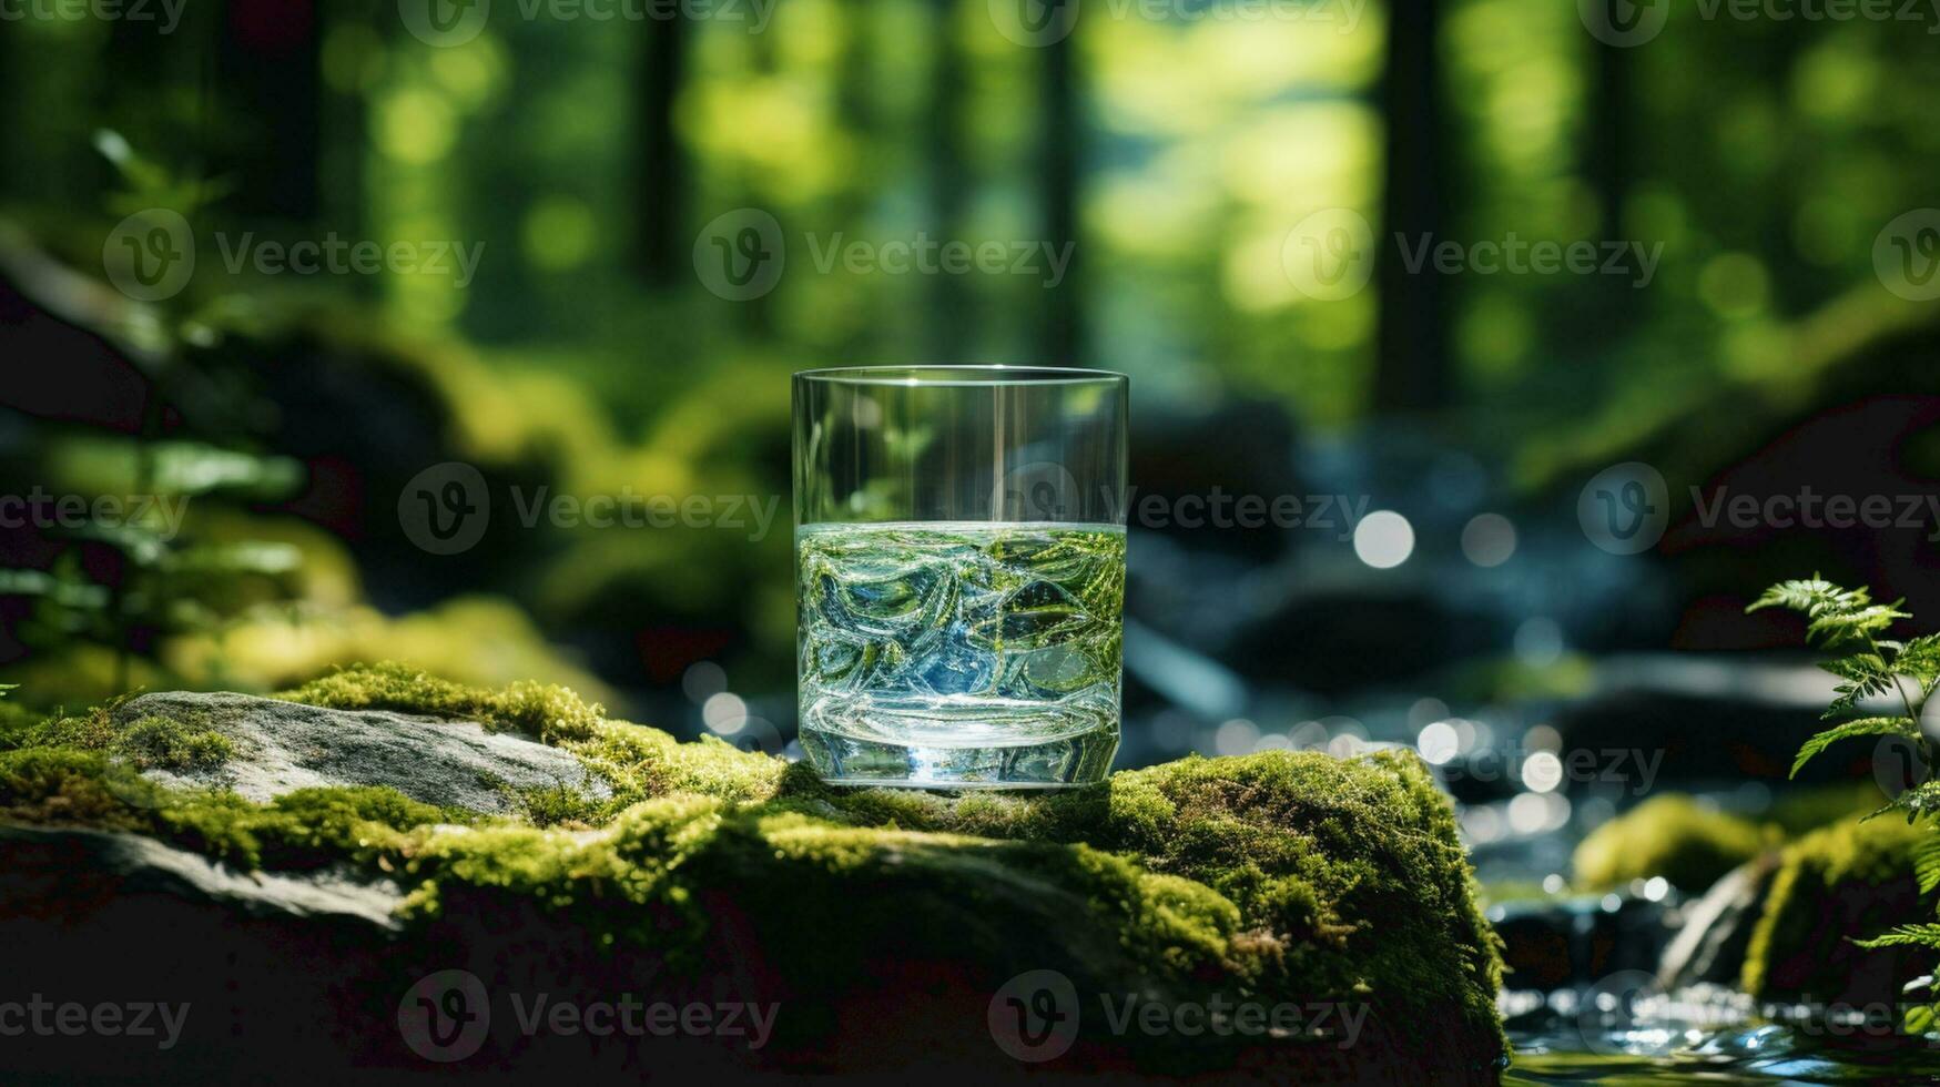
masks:
<instances>
[{"instance_id":1,"label":"small rounded blurred moss mound between large boulder and fern","mask_svg":"<svg viewBox=\"0 0 1940 1087\"><path fill-rule=\"evenodd\" d=\"M1622 887L1663 875L1686 895L1701 895L1719 875L1777 844L1777 835L1690 796L1653 796L1585 837L1571 856L1575 883Z\"/></svg>"}]
</instances>

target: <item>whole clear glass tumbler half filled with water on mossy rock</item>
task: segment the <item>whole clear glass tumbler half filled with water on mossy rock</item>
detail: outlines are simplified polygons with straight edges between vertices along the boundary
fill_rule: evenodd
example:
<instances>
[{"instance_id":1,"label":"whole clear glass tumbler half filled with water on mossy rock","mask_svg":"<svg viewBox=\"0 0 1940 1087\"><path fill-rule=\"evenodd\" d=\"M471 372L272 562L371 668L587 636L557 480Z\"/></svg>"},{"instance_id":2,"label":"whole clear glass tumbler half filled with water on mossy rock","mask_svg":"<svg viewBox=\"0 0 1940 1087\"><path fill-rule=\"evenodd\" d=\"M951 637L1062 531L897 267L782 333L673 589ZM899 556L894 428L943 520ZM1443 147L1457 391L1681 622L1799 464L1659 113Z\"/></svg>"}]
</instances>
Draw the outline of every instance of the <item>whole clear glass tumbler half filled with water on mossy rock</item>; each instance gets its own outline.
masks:
<instances>
[{"instance_id":1,"label":"whole clear glass tumbler half filled with water on mossy rock","mask_svg":"<svg viewBox=\"0 0 1940 1087\"><path fill-rule=\"evenodd\" d=\"M1100 780L1119 734L1129 380L795 375L801 747L832 782Z\"/></svg>"}]
</instances>

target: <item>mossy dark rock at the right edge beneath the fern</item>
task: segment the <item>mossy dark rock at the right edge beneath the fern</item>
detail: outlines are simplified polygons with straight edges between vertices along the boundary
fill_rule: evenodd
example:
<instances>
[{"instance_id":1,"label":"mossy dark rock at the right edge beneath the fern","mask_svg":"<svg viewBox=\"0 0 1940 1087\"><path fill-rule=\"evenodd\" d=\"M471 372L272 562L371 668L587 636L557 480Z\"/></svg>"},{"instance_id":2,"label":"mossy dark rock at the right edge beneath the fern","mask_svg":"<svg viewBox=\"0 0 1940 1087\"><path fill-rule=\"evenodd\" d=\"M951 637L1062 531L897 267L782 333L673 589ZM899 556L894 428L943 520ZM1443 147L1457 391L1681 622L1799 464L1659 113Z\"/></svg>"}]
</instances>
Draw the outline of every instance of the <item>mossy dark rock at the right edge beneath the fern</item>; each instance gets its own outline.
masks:
<instances>
[{"instance_id":1,"label":"mossy dark rock at the right edge beneath the fern","mask_svg":"<svg viewBox=\"0 0 1940 1087\"><path fill-rule=\"evenodd\" d=\"M1930 827L1901 819L1845 819L1787 846L1752 930L1744 990L1760 1000L1893 1002L1932 967L1930 955L1853 939L1932 920L1934 895L1913 881L1915 846L1930 837Z\"/></svg>"}]
</instances>

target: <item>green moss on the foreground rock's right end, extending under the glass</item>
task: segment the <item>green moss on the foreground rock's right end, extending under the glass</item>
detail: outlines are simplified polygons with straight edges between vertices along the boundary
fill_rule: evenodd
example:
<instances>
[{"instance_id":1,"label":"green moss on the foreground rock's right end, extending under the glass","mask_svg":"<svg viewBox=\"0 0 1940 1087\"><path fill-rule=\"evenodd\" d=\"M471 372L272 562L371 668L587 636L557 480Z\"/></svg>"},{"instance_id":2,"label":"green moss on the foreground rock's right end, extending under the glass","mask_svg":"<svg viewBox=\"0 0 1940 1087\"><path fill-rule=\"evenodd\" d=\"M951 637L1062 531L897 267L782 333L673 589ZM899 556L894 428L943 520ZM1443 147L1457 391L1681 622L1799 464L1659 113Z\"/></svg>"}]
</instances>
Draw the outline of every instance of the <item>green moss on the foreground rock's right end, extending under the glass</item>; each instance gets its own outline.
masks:
<instances>
[{"instance_id":1,"label":"green moss on the foreground rock's right end, extending under the glass","mask_svg":"<svg viewBox=\"0 0 1940 1087\"><path fill-rule=\"evenodd\" d=\"M1372 994L1459 1050L1498 1035L1502 961L1455 817L1412 755L1187 757L1050 796L842 792L793 769L770 807L869 827L1083 840L1238 910L1228 969L1259 992Z\"/></svg>"}]
</instances>

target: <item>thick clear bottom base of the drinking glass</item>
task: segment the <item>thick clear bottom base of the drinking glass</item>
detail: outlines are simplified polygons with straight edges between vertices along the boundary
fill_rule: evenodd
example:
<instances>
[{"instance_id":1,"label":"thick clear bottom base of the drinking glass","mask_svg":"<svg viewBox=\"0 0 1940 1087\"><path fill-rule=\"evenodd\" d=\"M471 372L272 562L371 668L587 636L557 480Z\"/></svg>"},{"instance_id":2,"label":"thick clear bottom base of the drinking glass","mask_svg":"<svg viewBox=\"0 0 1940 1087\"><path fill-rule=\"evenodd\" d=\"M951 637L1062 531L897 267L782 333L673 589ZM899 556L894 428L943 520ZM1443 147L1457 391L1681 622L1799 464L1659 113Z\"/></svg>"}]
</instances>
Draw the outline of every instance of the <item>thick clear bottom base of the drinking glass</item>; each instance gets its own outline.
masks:
<instances>
[{"instance_id":1,"label":"thick clear bottom base of the drinking glass","mask_svg":"<svg viewBox=\"0 0 1940 1087\"><path fill-rule=\"evenodd\" d=\"M1117 730L1007 745L947 745L801 730L809 765L828 784L887 788L1077 788L1104 780Z\"/></svg>"}]
</instances>

